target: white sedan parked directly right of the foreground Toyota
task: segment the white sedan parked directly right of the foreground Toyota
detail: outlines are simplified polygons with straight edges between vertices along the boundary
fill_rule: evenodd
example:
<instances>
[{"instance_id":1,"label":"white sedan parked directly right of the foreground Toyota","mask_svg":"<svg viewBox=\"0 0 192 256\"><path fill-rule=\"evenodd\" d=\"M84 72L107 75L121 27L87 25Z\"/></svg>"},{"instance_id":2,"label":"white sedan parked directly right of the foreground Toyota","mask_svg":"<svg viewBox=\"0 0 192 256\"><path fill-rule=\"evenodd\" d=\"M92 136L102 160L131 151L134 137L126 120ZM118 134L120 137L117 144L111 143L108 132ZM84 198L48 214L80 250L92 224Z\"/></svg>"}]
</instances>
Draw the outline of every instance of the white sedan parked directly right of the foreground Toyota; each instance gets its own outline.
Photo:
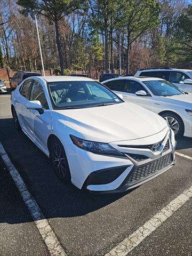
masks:
<instances>
[{"instance_id":1,"label":"white sedan parked directly right of the foreground Toyota","mask_svg":"<svg viewBox=\"0 0 192 256\"><path fill-rule=\"evenodd\" d=\"M169 122L175 136L192 137L192 94L161 78L119 77L103 82L123 99L154 111Z\"/></svg>"}]
</instances>

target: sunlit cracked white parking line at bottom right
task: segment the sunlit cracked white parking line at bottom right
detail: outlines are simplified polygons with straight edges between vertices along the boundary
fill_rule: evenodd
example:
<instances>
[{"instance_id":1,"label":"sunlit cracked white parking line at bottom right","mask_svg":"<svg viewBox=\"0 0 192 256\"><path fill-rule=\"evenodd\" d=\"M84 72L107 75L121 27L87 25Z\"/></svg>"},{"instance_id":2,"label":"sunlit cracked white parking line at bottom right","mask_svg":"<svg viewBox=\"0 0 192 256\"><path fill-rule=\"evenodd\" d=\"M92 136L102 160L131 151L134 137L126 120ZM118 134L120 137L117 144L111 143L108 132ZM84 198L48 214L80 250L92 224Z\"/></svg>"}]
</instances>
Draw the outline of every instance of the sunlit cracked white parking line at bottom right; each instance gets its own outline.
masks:
<instances>
[{"instance_id":1,"label":"sunlit cracked white parking line at bottom right","mask_svg":"<svg viewBox=\"0 0 192 256\"><path fill-rule=\"evenodd\" d=\"M183 191L181 195L166 205L161 211L155 214L154 217L150 218L144 225L139 227L133 234L125 238L123 242L118 244L105 256L126 256L130 251L134 249L134 247L138 246L143 241L143 239L145 239L154 230L161 226L165 220L167 220L191 197L192 186Z\"/></svg>"}]
</instances>

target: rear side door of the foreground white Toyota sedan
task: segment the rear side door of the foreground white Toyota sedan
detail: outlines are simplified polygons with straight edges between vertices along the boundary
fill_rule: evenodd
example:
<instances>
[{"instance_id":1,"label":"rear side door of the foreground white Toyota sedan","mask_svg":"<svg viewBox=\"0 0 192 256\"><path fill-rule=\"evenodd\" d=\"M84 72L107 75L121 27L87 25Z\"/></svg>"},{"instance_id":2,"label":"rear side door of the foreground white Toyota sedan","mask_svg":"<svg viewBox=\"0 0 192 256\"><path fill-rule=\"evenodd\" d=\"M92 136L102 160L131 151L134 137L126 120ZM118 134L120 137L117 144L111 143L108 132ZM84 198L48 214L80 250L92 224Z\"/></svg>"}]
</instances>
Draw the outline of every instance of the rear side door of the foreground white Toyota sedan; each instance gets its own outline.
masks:
<instances>
[{"instance_id":1,"label":"rear side door of the foreground white Toyota sedan","mask_svg":"<svg viewBox=\"0 0 192 256\"><path fill-rule=\"evenodd\" d=\"M33 79L28 79L23 83L17 93L15 101L15 109L19 118L19 123L22 129L28 134L26 120L25 120L25 108L29 101L30 86L33 83Z\"/></svg>"}]
</instances>

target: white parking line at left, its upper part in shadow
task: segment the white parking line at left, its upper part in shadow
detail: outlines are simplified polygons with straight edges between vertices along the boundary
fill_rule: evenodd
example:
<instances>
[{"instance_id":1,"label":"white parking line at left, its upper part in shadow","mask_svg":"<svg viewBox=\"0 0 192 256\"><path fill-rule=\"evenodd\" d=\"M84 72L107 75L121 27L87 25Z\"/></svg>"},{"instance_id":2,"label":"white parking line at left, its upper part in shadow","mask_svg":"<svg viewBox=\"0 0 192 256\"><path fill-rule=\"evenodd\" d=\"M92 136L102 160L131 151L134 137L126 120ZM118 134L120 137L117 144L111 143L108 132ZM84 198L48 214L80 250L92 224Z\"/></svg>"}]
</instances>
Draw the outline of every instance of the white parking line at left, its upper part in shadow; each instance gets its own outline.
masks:
<instances>
[{"instance_id":1,"label":"white parking line at left, its upper part in shadow","mask_svg":"<svg viewBox=\"0 0 192 256\"><path fill-rule=\"evenodd\" d=\"M57 236L54 234L49 222L45 219L41 209L39 208L37 202L30 194L27 186L25 185L24 181L22 180L19 172L14 167L13 163L11 162L9 156L6 154L5 149L0 142L0 155L5 163L9 173L11 174L12 179L17 186L23 201L25 202L31 216L34 219L35 225L38 228L39 233L43 237L43 240L49 250L50 254L53 256L66 256L66 253L63 251Z\"/></svg>"}]
</instances>

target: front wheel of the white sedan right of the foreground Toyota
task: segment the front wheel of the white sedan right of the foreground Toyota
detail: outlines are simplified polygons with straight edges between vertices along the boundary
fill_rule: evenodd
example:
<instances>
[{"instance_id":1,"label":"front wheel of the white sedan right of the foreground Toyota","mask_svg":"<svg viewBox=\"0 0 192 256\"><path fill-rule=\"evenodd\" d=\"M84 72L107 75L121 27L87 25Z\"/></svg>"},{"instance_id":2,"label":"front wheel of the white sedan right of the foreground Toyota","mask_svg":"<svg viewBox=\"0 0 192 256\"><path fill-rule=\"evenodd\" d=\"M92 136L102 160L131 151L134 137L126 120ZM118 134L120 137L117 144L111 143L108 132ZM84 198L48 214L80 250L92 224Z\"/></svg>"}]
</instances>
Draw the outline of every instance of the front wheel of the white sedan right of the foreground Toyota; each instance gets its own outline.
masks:
<instances>
[{"instance_id":1,"label":"front wheel of the white sedan right of the foreground Toyota","mask_svg":"<svg viewBox=\"0 0 192 256\"><path fill-rule=\"evenodd\" d=\"M166 112L161 115L168 123L171 129L174 131L175 138L180 138L184 133L184 124L181 117L172 112Z\"/></svg>"}]
</instances>

